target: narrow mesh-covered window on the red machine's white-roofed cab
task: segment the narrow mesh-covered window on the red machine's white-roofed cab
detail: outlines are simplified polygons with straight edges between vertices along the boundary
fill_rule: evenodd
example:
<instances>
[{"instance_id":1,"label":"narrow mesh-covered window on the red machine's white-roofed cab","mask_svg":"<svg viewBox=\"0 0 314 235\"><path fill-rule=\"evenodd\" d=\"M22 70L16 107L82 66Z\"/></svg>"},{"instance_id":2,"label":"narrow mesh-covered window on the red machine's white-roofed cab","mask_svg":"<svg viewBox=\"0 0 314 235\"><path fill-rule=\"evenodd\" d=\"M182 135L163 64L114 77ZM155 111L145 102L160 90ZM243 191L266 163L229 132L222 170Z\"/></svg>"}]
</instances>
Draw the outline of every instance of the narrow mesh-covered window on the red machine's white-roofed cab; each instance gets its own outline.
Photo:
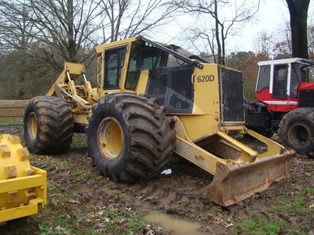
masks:
<instances>
[{"instance_id":1,"label":"narrow mesh-covered window on the red machine's white-roofed cab","mask_svg":"<svg viewBox=\"0 0 314 235\"><path fill-rule=\"evenodd\" d=\"M275 77L273 86L273 97L286 99L287 94L287 65L275 66Z\"/></svg>"}]
</instances>

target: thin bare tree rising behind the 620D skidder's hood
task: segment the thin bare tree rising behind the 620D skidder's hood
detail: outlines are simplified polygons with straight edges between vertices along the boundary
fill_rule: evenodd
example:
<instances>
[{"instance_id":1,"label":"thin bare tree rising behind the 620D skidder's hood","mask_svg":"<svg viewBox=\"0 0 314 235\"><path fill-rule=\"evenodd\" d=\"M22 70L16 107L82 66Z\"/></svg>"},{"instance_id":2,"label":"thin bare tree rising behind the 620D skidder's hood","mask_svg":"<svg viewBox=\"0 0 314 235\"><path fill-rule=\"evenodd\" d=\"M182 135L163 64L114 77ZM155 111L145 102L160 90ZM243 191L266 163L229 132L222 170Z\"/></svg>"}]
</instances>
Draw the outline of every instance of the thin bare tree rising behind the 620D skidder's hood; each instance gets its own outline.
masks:
<instances>
[{"instance_id":1,"label":"thin bare tree rising behind the 620D skidder's hood","mask_svg":"<svg viewBox=\"0 0 314 235\"><path fill-rule=\"evenodd\" d=\"M197 15L209 16L213 19L213 25L201 27L194 25L194 39L202 39L207 42L211 53L214 55L214 61L219 64L225 64L226 40L232 33L232 29L240 29L244 24L252 20L260 7L260 0L253 6L246 4L245 0L235 0L233 4L223 0L175 0L175 4L184 13L193 13ZM226 8L232 7L232 14L222 16ZM230 12L230 11L228 11Z\"/></svg>"}]
</instances>

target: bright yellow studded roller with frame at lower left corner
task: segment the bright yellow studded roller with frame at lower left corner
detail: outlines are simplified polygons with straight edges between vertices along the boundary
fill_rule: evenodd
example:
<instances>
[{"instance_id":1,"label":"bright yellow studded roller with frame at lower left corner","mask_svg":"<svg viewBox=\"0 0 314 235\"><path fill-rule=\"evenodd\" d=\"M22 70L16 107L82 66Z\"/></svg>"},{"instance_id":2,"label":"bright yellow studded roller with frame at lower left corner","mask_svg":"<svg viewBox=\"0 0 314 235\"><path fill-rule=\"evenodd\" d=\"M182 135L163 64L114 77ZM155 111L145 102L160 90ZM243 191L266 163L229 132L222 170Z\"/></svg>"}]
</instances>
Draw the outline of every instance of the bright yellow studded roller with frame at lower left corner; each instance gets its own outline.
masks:
<instances>
[{"instance_id":1,"label":"bright yellow studded roller with frame at lower left corner","mask_svg":"<svg viewBox=\"0 0 314 235\"><path fill-rule=\"evenodd\" d=\"M38 212L47 204L47 173L29 164L18 136L0 135L0 224Z\"/></svg>"}]
</instances>

